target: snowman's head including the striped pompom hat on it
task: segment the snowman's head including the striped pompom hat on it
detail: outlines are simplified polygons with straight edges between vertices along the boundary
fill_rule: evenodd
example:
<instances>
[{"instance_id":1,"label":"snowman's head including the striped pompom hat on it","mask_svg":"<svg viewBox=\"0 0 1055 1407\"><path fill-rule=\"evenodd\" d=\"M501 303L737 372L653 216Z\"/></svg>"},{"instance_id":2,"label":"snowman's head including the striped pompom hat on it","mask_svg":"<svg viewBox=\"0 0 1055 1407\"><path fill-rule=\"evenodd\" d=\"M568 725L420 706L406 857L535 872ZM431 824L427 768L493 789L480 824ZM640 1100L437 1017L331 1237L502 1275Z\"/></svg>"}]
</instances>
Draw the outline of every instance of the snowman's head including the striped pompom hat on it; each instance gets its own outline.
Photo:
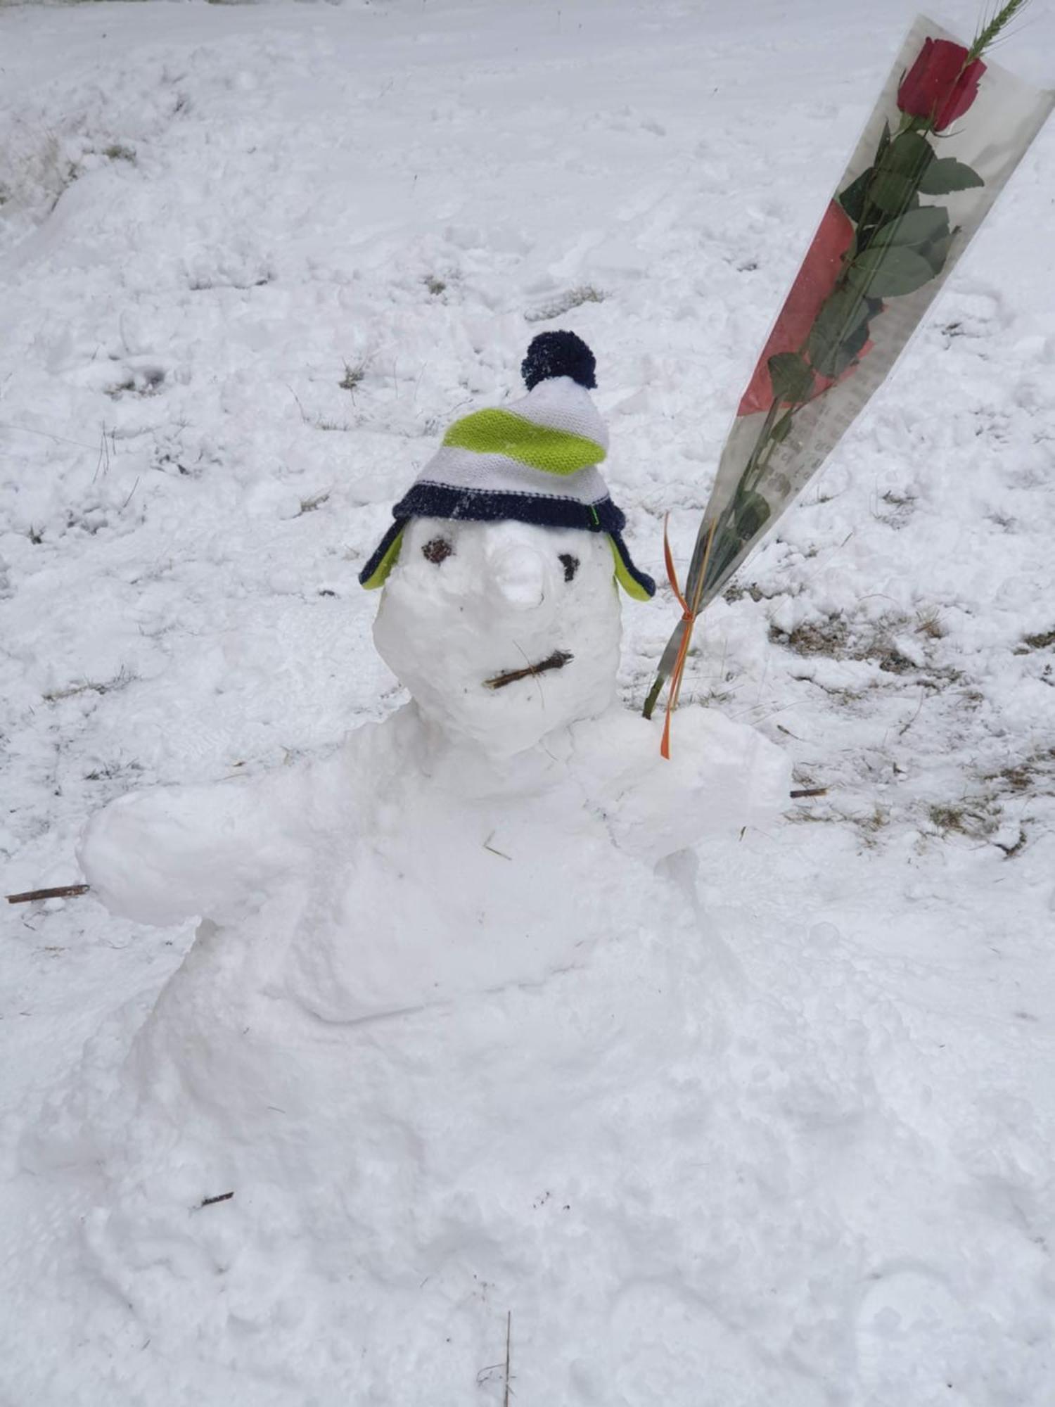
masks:
<instances>
[{"instance_id":1,"label":"snowman's head including the striped pompom hat on it","mask_svg":"<svg viewBox=\"0 0 1055 1407\"><path fill-rule=\"evenodd\" d=\"M544 332L522 373L522 400L450 426L359 577L385 585L374 640L422 711L492 753L606 708L616 582L656 590L598 470L589 348Z\"/></svg>"}]
</instances>

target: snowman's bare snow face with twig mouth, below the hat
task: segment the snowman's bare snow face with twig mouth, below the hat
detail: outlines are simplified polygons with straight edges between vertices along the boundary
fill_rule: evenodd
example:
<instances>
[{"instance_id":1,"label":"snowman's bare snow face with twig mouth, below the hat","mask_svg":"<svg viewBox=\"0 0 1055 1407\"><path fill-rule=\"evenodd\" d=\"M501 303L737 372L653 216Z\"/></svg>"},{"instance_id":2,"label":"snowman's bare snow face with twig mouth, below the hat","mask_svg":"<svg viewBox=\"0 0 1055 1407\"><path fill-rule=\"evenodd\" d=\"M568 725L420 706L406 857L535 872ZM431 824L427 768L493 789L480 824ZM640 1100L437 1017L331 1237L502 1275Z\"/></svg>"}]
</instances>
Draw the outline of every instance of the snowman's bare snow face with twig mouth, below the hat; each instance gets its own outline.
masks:
<instances>
[{"instance_id":1,"label":"snowman's bare snow face with twig mouth, below the hat","mask_svg":"<svg viewBox=\"0 0 1055 1407\"><path fill-rule=\"evenodd\" d=\"M415 518L374 643L445 733L508 756L609 706L619 630L603 535Z\"/></svg>"}]
</instances>

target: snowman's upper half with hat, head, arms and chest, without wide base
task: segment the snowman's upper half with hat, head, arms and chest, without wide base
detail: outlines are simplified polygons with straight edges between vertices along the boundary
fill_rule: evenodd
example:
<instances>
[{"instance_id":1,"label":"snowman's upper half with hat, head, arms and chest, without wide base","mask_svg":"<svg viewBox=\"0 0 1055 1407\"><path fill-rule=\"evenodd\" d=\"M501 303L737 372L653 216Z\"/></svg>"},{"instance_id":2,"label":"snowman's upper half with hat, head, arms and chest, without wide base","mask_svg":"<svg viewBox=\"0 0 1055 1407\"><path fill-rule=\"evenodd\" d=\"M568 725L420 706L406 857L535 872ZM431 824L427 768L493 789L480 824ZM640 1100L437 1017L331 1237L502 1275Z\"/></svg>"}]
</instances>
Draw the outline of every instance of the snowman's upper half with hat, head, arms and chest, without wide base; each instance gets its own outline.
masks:
<instances>
[{"instance_id":1,"label":"snowman's upper half with hat, head, arms and chest, without wide base","mask_svg":"<svg viewBox=\"0 0 1055 1407\"><path fill-rule=\"evenodd\" d=\"M656 585L598 470L595 360L544 332L522 374L522 400L452 425L360 573L411 702L322 763L108 806L80 858L114 913L248 937L293 909L273 979L350 1021L543 981L585 957L613 868L782 808L754 730L686 712L672 765L615 706L616 588Z\"/></svg>"}]
</instances>

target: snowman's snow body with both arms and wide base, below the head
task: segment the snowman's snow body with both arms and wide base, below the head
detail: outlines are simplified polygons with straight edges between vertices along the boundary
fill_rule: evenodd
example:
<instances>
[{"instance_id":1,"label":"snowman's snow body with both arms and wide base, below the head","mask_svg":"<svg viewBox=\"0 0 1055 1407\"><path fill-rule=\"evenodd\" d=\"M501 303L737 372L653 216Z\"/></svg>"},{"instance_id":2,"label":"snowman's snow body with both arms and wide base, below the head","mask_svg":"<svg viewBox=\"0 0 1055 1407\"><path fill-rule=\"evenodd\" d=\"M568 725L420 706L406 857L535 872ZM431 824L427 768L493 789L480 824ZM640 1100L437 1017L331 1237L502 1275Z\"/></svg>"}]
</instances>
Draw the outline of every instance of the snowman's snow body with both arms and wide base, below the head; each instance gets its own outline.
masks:
<instances>
[{"instance_id":1,"label":"snowman's snow body with both arms and wide base, below the head","mask_svg":"<svg viewBox=\"0 0 1055 1407\"><path fill-rule=\"evenodd\" d=\"M702 711L678 768L620 711L504 761L437 737L409 705L322 763L87 830L115 909L210 917L124 1062L101 1040L21 1158L96 1169L77 1256L165 1354L392 1400L412 1303L442 1386L488 1361L470 1285L553 1294L543 1337L574 1304L610 1351L609 1316L670 1311L629 1262L703 1251L677 1206L706 1182L737 996L685 847L772 823L786 761ZM567 1330L554 1351L561 1397L585 1368Z\"/></svg>"}]
</instances>

